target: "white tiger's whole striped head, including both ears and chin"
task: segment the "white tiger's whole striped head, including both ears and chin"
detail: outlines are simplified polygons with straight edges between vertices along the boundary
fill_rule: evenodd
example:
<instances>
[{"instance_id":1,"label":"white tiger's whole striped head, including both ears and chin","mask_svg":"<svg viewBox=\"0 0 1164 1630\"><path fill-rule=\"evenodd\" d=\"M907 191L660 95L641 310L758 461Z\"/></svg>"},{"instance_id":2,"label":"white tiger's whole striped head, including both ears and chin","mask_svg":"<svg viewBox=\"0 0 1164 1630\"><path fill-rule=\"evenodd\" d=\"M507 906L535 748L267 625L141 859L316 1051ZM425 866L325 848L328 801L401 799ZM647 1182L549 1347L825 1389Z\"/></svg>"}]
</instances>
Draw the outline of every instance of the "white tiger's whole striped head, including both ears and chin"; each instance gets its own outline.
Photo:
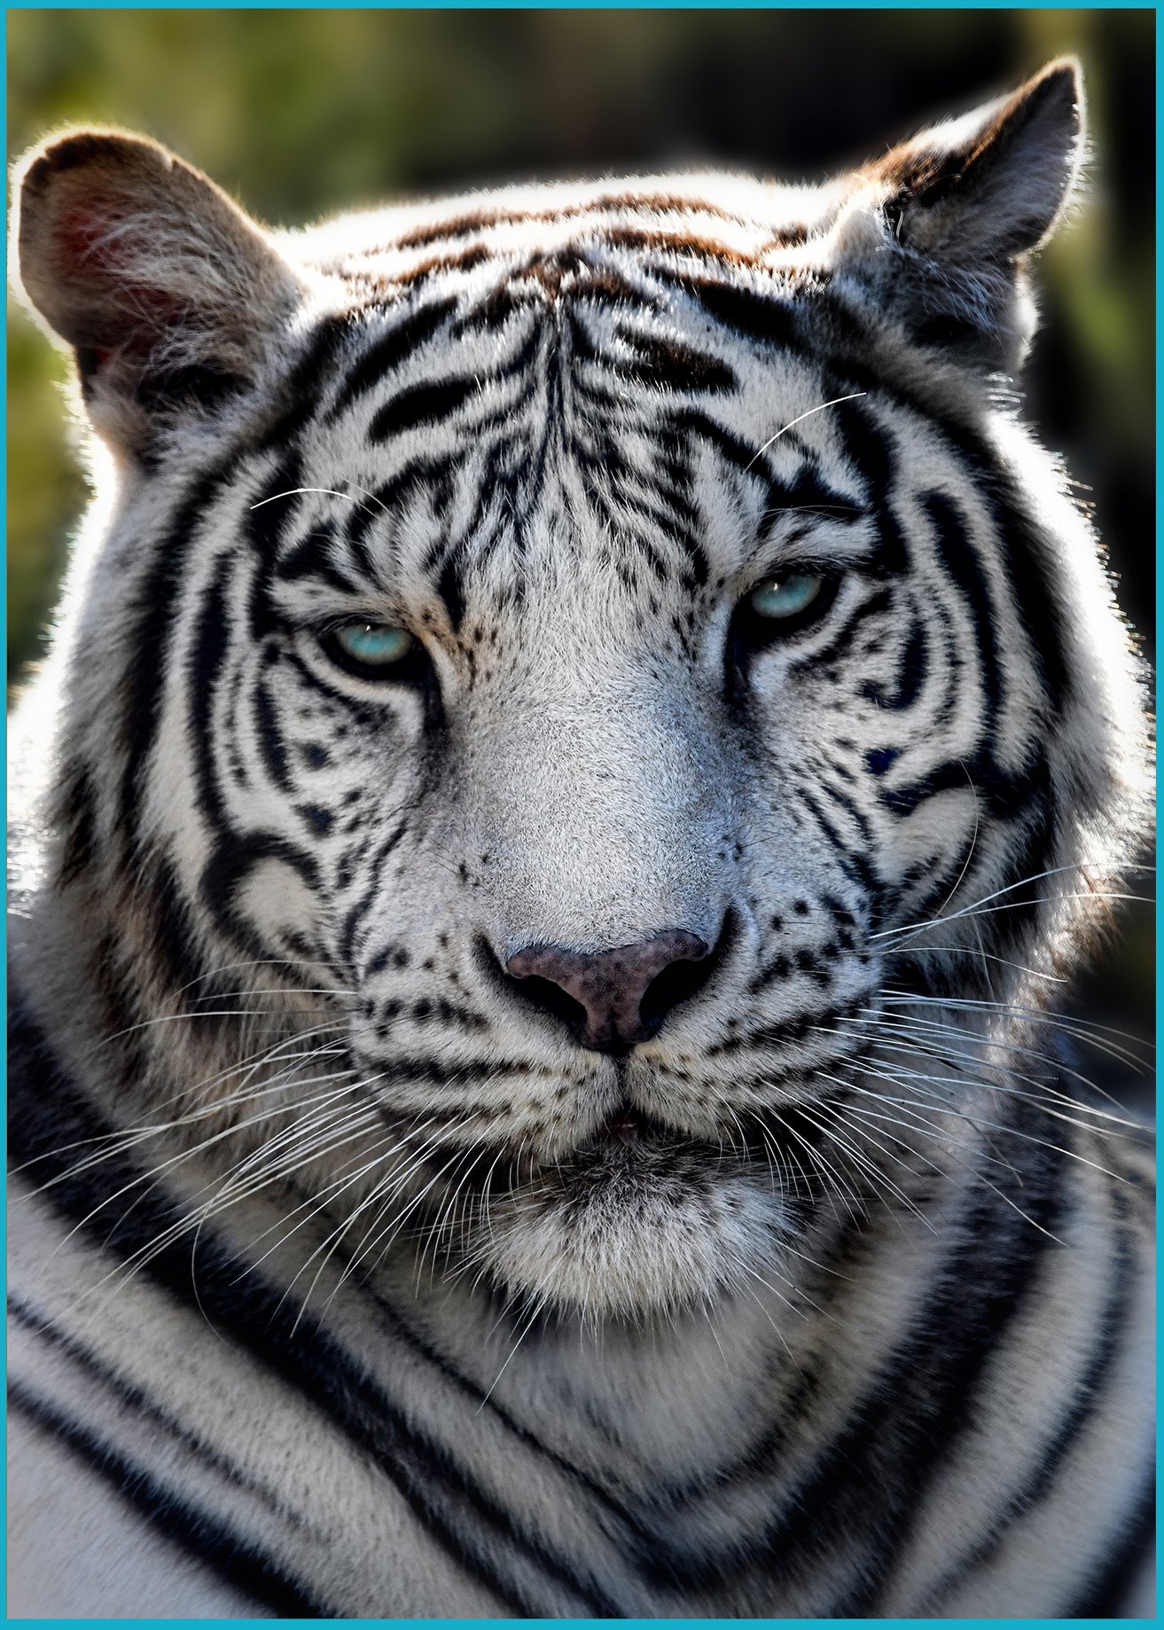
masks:
<instances>
[{"instance_id":1,"label":"white tiger's whole striped head, including both ears and chin","mask_svg":"<svg viewBox=\"0 0 1164 1630\"><path fill-rule=\"evenodd\" d=\"M1055 64L822 187L271 233L139 137L24 160L103 463L62 937L223 1162L310 1177L357 1258L642 1319L877 1165L905 1004L1074 962L1138 681L1006 386L1079 143Z\"/></svg>"}]
</instances>

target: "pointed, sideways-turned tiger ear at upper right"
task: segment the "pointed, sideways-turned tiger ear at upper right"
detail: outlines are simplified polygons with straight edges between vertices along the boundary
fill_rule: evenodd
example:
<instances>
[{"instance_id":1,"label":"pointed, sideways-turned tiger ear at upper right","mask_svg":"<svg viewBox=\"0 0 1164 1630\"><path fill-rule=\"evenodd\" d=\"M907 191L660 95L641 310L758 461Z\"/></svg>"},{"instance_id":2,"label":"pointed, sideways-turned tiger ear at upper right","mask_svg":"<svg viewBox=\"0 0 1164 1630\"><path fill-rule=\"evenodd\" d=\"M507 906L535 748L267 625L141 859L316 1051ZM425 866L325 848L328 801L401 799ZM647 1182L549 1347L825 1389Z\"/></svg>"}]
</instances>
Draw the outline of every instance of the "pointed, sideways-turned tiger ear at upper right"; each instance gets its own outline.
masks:
<instances>
[{"instance_id":1,"label":"pointed, sideways-turned tiger ear at upper right","mask_svg":"<svg viewBox=\"0 0 1164 1630\"><path fill-rule=\"evenodd\" d=\"M892 238L890 300L918 339L993 367L1022 360L1024 261L1063 214L1082 145L1079 65L1063 59L866 168Z\"/></svg>"}]
</instances>

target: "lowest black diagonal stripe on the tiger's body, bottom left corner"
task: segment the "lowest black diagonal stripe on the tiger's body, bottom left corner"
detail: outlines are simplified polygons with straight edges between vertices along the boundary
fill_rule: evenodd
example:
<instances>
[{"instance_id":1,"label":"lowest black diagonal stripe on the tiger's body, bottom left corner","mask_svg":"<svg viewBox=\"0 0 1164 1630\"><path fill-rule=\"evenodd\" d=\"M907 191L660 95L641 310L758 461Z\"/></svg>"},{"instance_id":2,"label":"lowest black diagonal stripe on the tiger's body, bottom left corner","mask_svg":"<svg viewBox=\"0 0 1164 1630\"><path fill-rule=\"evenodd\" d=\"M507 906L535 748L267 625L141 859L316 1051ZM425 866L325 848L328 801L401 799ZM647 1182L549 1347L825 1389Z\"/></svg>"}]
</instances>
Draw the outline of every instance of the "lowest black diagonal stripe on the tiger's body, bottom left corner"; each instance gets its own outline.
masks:
<instances>
[{"instance_id":1,"label":"lowest black diagonal stripe on the tiger's body, bottom left corner","mask_svg":"<svg viewBox=\"0 0 1164 1630\"><path fill-rule=\"evenodd\" d=\"M10 1384L8 1402L37 1426L60 1438L91 1470L112 1483L122 1500L127 1500L155 1532L197 1557L243 1596L271 1607L280 1619L341 1617L320 1602L300 1579L279 1566L267 1552L240 1540L209 1511L152 1477L80 1421L34 1399L20 1382Z\"/></svg>"}]
</instances>

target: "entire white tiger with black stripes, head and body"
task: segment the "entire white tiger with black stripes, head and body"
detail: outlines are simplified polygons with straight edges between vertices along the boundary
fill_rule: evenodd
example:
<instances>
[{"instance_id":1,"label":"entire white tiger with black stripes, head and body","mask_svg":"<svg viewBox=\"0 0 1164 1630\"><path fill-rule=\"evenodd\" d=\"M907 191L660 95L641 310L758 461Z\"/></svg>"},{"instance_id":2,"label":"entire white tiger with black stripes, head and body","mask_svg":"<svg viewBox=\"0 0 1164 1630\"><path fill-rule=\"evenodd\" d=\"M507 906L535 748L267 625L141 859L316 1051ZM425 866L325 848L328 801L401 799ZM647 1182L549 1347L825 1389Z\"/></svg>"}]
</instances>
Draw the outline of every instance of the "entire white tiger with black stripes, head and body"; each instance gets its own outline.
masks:
<instances>
[{"instance_id":1,"label":"entire white tiger with black stripes, head and body","mask_svg":"<svg viewBox=\"0 0 1164 1630\"><path fill-rule=\"evenodd\" d=\"M822 186L20 163L98 496L11 735L10 1610L1143 1610L1071 981L1151 738L1014 390L1082 139L1056 62Z\"/></svg>"}]
</instances>

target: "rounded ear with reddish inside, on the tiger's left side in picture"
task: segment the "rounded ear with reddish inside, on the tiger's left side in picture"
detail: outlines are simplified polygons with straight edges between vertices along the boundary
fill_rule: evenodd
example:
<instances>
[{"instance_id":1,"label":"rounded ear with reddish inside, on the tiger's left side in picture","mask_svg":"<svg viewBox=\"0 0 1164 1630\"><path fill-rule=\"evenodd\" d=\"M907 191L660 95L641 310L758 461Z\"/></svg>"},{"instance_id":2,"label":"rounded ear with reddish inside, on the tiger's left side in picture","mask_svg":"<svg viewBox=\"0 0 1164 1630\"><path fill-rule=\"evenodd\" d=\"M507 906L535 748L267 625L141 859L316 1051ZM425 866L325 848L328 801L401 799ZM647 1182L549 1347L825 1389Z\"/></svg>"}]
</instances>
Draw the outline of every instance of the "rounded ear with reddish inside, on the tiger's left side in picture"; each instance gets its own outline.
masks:
<instances>
[{"instance_id":1,"label":"rounded ear with reddish inside, on the tiger's left side in picture","mask_svg":"<svg viewBox=\"0 0 1164 1630\"><path fill-rule=\"evenodd\" d=\"M16 168L28 303L75 354L98 432L148 458L183 411L245 390L302 293L262 230L157 142L67 130Z\"/></svg>"}]
</instances>

